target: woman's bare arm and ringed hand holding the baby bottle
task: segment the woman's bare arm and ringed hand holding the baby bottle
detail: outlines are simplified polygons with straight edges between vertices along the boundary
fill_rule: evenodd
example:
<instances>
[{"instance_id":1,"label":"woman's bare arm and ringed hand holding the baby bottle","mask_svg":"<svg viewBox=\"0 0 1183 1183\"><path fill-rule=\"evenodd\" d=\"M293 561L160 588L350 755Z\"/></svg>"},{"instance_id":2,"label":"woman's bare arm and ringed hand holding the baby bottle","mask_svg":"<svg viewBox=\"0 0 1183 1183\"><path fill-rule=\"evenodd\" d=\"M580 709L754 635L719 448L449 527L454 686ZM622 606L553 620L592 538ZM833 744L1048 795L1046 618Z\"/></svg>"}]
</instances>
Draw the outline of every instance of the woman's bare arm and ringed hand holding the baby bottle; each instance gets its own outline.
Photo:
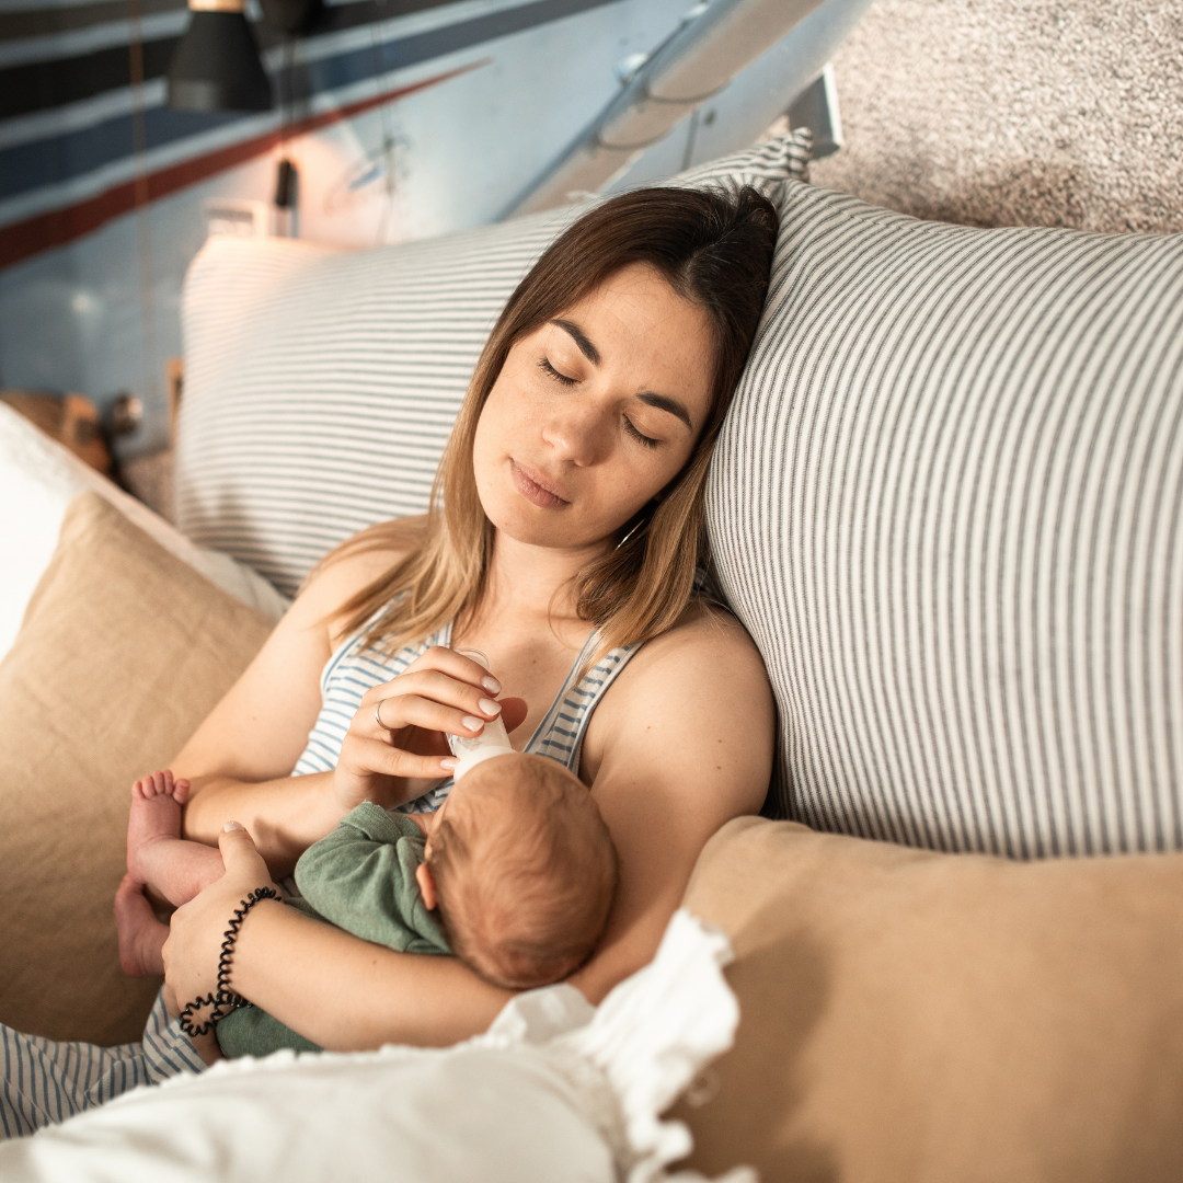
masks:
<instances>
[{"instance_id":1,"label":"woman's bare arm and ringed hand holding the baby bottle","mask_svg":"<svg viewBox=\"0 0 1183 1183\"><path fill-rule=\"evenodd\" d=\"M400 523L401 525L401 523ZM468 733L466 716L492 718L485 671L450 649L432 648L397 678L362 698L331 772L290 776L321 709L321 671L343 640L336 612L399 558L360 551L310 582L238 683L176 757L173 771L192 789L185 836L213 845L225 822L244 823L277 875L361 801L396 806L447 775L441 732ZM380 726L375 707L384 699ZM505 725L525 713L506 699Z\"/></svg>"}]
</instances>

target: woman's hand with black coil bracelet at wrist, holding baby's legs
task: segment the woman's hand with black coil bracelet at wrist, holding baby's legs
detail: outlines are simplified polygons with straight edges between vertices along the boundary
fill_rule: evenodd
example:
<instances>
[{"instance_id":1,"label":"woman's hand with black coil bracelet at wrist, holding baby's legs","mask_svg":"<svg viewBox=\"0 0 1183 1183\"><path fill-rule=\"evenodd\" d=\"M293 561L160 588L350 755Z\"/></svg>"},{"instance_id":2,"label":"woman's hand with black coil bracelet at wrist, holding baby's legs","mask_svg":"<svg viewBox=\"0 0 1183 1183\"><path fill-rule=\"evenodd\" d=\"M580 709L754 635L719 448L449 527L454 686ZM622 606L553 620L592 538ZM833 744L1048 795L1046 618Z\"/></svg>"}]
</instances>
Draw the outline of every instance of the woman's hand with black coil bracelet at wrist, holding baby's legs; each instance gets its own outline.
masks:
<instances>
[{"instance_id":1,"label":"woman's hand with black coil bracelet at wrist, holding baby's legs","mask_svg":"<svg viewBox=\"0 0 1183 1183\"><path fill-rule=\"evenodd\" d=\"M279 891L271 881L271 872L267 871L263 855L254 848L251 835L238 822L226 825L228 828L218 840L226 873L173 913L168 939L162 950L164 981L172 987L177 1006L182 1008L194 998L216 993L222 940L234 910L241 906L247 893L256 887ZM264 900L247 914L244 927L250 926L251 916L258 907L282 906L277 901ZM230 985L233 990L233 961ZM202 1016L199 1013L196 1017L200 1021Z\"/></svg>"}]
</instances>

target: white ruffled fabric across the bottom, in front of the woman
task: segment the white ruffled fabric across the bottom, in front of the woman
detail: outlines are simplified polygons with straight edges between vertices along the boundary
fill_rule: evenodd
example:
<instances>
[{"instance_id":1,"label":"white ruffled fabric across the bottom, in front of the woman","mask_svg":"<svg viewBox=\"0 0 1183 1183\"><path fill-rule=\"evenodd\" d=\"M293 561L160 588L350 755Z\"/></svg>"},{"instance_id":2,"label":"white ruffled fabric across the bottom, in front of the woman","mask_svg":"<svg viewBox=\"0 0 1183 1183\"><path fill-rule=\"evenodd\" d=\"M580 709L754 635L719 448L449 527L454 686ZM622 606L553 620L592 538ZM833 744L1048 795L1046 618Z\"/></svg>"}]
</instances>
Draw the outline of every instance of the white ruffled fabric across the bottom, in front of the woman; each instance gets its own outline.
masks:
<instances>
[{"instance_id":1,"label":"white ruffled fabric across the bottom, in front of the woman","mask_svg":"<svg viewBox=\"0 0 1183 1183\"><path fill-rule=\"evenodd\" d=\"M515 998L453 1048L279 1052L138 1088L0 1144L6 1183L696 1183L661 1113L731 1046L726 937L674 914L653 963L599 1008ZM756 1183L738 1168L719 1183Z\"/></svg>"}]
</instances>

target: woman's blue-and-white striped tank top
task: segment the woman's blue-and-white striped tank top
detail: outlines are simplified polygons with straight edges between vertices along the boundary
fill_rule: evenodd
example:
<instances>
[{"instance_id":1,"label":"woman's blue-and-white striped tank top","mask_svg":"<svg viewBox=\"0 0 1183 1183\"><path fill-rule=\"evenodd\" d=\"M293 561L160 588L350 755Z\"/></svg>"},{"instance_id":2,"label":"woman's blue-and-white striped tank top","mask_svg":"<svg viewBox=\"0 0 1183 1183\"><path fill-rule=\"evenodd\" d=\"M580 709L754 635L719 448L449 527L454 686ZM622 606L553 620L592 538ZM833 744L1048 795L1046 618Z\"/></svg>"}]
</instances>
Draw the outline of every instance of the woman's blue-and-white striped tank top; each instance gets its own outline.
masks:
<instances>
[{"instance_id":1,"label":"woman's blue-and-white striped tank top","mask_svg":"<svg viewBox=\"0 0 1183 1183\"><path fill-rule=\"evenodd\" d=\"M433 645L446 647L452 640L452 626L446 625L419 645L405 645L397 653L383 653L366 645L364 633L366 627L343 641L325 664L321 674L321 713L309 732L308 746L296 762L292 776L328 772L336 768L341 744L366 691L396 678ZM588 654L595 648L597 636L599 633L593 631L583 642L583 648L550 704L550 710L522 749L537 756L549 756L576 776L580 771L583 733L592 712L640 648L640 645L629 645L609 649L582 678L577 678ZM431 813L439 809L452 791L452 777L441 781L421 797L399 806L399 813Z\"/></svg>"}]
</instances>

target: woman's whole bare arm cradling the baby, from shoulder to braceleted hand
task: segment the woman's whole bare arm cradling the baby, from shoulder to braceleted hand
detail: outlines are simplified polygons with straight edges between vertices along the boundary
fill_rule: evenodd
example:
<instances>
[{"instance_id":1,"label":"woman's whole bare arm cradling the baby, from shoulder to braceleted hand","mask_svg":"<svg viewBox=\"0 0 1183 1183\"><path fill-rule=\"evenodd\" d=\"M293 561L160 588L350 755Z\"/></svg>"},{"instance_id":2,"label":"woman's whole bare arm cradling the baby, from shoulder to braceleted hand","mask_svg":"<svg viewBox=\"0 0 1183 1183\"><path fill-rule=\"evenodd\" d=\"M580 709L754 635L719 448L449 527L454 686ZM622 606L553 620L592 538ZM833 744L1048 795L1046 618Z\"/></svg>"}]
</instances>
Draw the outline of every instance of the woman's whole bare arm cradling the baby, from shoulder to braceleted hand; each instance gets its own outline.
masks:
<instances>
[{"instance_id":1,"label":"woman's whole bare arm cradling the baby, from shoulder to braceleted hand","mask_svg":"<svg viewBox=\"0 0 1183 1183\"><path fill-rule=\"evenodd\" d=\"M703 616L651 642L605 697L584 761L621 879L605 943L573 980L593 1002L653 957L706 839L759 808L771 749L768 680L733 623ZM227 864L173 918L166 964L180 997L209 989L226 917L265 874L243 867ZM259 905L244 925L233 987L338 1051L452 1043L486 1029L510 997L458 961L392 952L278 904Z\"/></svg>"}]
</instances>

